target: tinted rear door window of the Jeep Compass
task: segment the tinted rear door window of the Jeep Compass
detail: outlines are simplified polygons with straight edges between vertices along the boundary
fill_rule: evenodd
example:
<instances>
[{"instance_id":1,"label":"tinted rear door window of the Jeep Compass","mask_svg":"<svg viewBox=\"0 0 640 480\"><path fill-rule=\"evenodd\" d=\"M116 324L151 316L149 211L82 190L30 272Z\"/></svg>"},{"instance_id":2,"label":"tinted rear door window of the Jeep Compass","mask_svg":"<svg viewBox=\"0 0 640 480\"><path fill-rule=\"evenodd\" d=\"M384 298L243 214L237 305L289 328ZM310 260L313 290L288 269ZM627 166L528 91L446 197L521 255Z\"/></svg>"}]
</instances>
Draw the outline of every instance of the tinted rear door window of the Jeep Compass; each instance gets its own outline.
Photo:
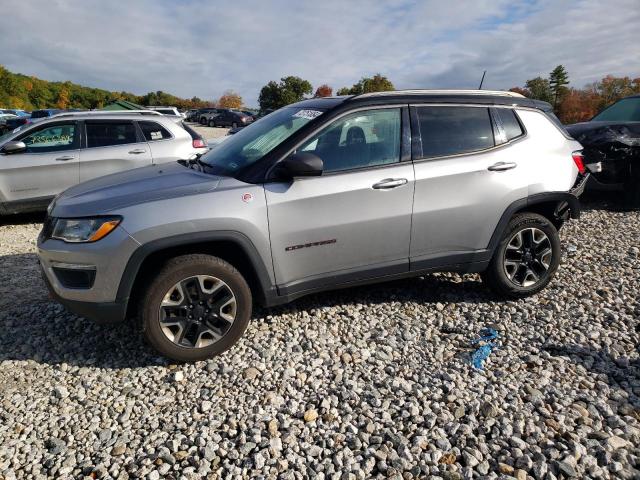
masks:
<instances>
[{"instance_id":1,"label":"tinted rear door window of the Jeep Compass","mask_svg":"<svg viewBox=\"0 0 640 480\"><path fill-rule=\"evenodd\" d=\"M415 107L422 155L434 158L477 152L495 146L486 107Z\"/></svg>"}]
</instances>

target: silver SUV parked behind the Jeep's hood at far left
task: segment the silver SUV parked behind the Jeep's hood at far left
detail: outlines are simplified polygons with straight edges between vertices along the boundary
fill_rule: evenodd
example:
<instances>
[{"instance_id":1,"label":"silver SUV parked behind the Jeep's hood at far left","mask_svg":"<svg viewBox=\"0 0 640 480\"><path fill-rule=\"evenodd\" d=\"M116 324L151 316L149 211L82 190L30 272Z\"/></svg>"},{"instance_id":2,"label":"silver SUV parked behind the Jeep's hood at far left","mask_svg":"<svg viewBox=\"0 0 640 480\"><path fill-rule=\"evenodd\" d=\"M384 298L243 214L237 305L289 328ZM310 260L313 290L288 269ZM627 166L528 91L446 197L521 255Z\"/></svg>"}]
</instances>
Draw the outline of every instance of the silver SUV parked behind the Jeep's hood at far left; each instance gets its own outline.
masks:
<instances>
[{"instance_id":1,"label":"silver SUV parked behind the Jeep's hood at far left","mask_svg":"<svg viewBox=\"0 0 640 480\"><path fill-rule=\"evenodd\" d=\"M189 127L148 110L53 115L0 137L0 215L44 210L85 180L207 150Z\"/></svg>"}]
</instances>

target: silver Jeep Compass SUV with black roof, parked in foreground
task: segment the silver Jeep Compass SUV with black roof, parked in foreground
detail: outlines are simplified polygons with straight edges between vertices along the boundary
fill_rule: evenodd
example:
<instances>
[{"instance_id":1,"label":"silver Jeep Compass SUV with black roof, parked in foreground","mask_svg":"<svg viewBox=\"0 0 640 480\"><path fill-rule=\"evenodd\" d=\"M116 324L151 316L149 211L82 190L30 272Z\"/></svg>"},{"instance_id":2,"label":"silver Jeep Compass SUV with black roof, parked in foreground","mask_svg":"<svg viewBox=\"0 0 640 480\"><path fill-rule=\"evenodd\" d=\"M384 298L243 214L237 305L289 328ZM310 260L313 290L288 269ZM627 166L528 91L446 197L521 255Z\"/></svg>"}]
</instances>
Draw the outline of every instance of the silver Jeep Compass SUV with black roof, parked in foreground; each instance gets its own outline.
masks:
<instances>
[{"instance_id":1,"label":"silver Jeep Compass SUV with black roof, parked in foreground","mask_svg":"<svg viewBox=\"0 0 640 480\"><path fill-rule=\"evenodd\" d=\"M240 338L253 302L433 271L540 291L580 214L580 148L547 103L507 92L306 100L198 160L71 188L38 253L71 311L139 317L164 355L198 360Z\"/></svg>"}]
</instances>

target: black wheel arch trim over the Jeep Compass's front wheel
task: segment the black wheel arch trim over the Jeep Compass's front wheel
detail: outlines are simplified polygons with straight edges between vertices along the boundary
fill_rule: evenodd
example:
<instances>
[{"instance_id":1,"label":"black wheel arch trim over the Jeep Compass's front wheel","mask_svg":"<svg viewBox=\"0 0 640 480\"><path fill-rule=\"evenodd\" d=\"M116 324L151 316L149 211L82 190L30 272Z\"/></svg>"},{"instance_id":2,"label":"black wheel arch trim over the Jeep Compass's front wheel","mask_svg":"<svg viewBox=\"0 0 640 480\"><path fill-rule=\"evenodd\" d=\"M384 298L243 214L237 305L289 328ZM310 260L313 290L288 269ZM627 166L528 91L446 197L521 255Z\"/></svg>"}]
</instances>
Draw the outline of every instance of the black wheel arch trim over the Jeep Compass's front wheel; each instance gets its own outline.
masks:
<instances>
[{"instance_id":1,"label":"black wheel arch trim over the Jeep Compass's front wheel","mask_svg":"<svg viewBox=\"0 0 640 480\"><path fill-rule=\"evenodd\" d=\"M170 248L186 247L208 242L231 242L240 247L247 255L256 274L260 288L260 291L253 293L257 295L257 300L260 303L268 303L269 300L276 295L276 289L271 281L269 271L253 242L240 232L220 230L173 235L171 237L153 240L138 247L129 258L124 269L122 278L120 279L120 285L118 286L116 301L118 303L124 303L125 305L128 304L134 283L140 273L140 267L150 255Z\"/></svg>"}]
</instances>

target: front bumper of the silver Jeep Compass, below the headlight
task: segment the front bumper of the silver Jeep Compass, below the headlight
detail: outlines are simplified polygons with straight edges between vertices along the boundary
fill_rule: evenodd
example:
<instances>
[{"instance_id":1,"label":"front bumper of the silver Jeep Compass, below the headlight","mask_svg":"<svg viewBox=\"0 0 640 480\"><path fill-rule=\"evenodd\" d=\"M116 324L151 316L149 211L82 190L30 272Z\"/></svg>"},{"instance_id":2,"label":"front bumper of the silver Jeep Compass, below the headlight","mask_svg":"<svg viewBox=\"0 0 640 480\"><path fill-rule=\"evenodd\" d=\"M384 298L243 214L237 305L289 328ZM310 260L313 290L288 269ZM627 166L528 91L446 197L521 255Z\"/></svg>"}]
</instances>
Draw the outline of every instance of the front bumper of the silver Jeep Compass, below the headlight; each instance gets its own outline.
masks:
<instances>
[{"instance_id":1,"label":"front bumper of the silver Jeep Compass, below the headlight","mask_svg":"<svg viewBox=\"0 0 640 480\"><path fill-rule=\"evenodd\" d=\"M118 298L118 287L138 247L138 242L118 227L95 243L65 243L41 234L37 249L45 283L54 299L78 315L114 323L125 318L128 298ZM60 275L61 270L73 269L92 272L91 281L80 285Z\"/></svg>"}]
</instances>

